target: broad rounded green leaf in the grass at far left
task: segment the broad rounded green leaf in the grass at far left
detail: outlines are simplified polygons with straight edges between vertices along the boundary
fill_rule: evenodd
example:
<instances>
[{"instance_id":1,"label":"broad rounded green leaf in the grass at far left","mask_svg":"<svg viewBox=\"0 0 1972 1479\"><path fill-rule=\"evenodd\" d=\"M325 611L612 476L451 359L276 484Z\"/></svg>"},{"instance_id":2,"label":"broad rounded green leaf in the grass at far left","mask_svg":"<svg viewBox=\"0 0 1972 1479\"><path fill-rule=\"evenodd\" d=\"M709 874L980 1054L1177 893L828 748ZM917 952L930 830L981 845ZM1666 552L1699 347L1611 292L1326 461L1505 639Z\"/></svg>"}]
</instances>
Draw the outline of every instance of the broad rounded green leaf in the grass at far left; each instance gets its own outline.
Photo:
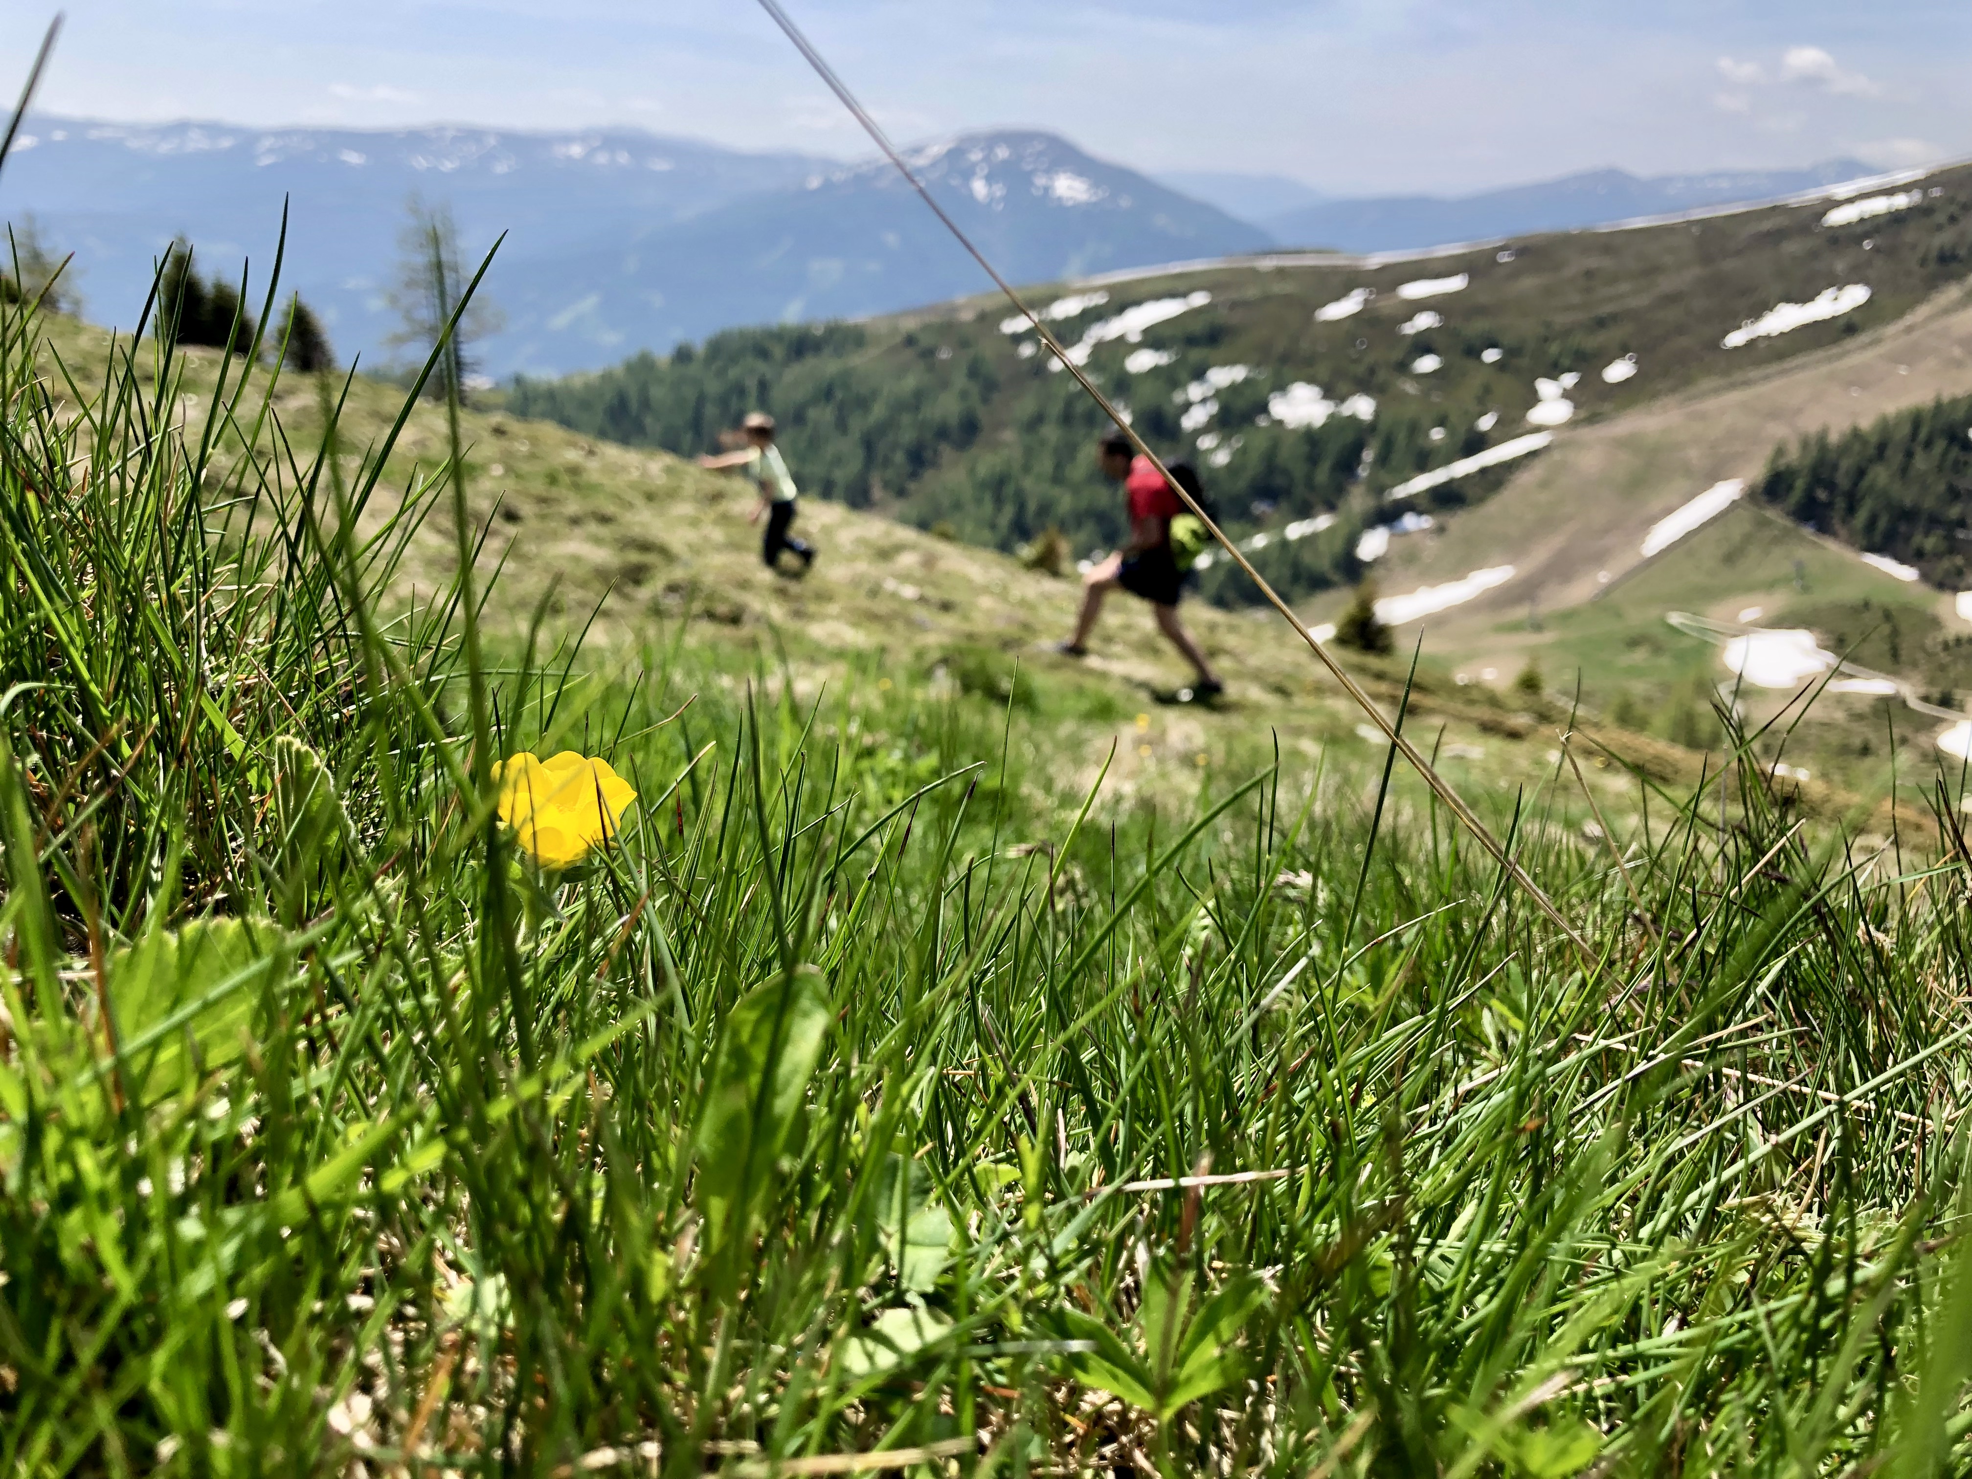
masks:
<instances>
[{"instance_id":1,"label":"broad rounded green leaf in the grass at far left","mask_svg":"<svg viewBox=\"0 0 1972 1479\"><path fill-rule=\"evenodd\" d=\"M156 1102L187 1083L187 1041L207 1069L241 1055L241 1033L260 1000L254 966L272 966L278 941L272 925L203 919L152 931L110 956L110 1020L134 1102Z\"/></svg>"}]
</instances>

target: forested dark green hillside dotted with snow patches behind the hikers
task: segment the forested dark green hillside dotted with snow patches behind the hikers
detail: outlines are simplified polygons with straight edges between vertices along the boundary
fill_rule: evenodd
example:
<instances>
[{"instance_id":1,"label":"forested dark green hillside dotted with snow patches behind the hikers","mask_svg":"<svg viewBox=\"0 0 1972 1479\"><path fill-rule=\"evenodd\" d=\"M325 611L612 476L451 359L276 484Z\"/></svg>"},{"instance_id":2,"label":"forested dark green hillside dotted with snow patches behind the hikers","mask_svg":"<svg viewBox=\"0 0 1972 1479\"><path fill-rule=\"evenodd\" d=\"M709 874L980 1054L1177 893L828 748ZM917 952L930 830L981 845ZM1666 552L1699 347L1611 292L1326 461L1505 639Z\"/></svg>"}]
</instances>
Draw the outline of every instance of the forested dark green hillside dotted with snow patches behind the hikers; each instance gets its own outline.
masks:
<instances>
[{"instance_id":1,"label":"forested dark green hillside dotted with snow patches behind the hikers","mask_svg":"<svg viewBox=\"0 0 1972 1479\"><path fill-rule=\"evenodd\" d=\"M1055 304L1053 327L1073 345L1146 304L1197 302L1134 339L1094 341L1089 367L1167 456L1219 463L1207 473L1242 534L1339 515L1323 536L1262 552L1270 578L1305 594L1355 580L1363 527L1408 507L1444 515L1505 483L1509 473L1495 469L1404 505L1380 497L1534 430L1526 414L1540 404L1538 379L1580 375L1566 398L1578 422L1593 422L1866 335L1956 284L1972 260L1968 185L1964 170L1897 185L1917 199L1850 225L1824 227L1834 203L1820 201L1534 237L1428 262L1311 256L1142 276L1094 290L1102 302L1037 290L1035 308ZM1398 292L1457 274L1469 278L1459 292ZM1869 300L1828 321L1722 345L1783 302L1842 286L1867 286ZM1357 302L1351 294L1365 294L1359 312L1317 319L1323 306ZM761 406L781 418L803 483L850 507L1002 550L1049 527L1063 528L1077 554L1112 546L1118 499L1089 459L1096 412L1031 353L1031 335L1002 333L1004 317L1002 302L968 300L860 325L734 331L670 359L521 383L511 404L686 454L710 450L722 426ZM1426 355L1440 367L1420 373ZM1601 373L1631 355L1635 375L1605 383ZM1276 402L1296 383L1319 396ZM1374 400L1374 414L1345 414L1351 396ZM1282 416L1323 422L1288 426ZM1487 416L1497 420L1481 430ZM1244 599L1229 570L1213 572L1207 590Z\"/></svg>"}]
</instances>

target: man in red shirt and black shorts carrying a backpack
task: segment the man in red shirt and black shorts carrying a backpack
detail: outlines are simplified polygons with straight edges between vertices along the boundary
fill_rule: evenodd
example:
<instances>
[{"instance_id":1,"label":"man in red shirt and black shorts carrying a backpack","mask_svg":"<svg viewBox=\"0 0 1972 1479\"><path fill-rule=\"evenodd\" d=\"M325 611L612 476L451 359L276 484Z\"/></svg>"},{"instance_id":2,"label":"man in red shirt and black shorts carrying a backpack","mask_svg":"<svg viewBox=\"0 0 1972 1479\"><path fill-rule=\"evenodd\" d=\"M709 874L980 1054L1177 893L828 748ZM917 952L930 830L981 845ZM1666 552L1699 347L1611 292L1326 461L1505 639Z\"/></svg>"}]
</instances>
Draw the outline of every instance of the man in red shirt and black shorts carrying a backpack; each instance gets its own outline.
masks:
<instances>
[{"instance_id":1,"label":"man in red shirt and black shorts carrying a backpack","mask_svg":"<svg viewBox=\"0 0 1972 1479\"><path fill-rule=\"evenodd\" d=\"M1102 475L1122 483L1130 497L1130 542L1116 554L1102 560L1083 576L1083 615L1075 623L1075 635L1055 651L1069 657L1087 657L1089 635L1102 615L1102 598L1122 586L1132 596L1150 601L1162 631L1185 661L1197 669L1199 680L1193 688L1179 690L1179 700L1203 702L1225 692L1213 665L1177 619L1177 599L1183 596L1185 580L1191 576L1191 562L1203 548L1197 536L1205 532L1197 517L1185 509L1169 483L1158 473L1158 463L1150 458L1132 458L1130 438L1110 432L1096 448ZM1199 475L1191 463L1171 463L1171 477L1177 479L1193 499L1201 497ZM1177 548L1173 548L1171 527L1181 521ZM1197 525L1197 530L1191 527Z\"/></svg>"}]
</instances>

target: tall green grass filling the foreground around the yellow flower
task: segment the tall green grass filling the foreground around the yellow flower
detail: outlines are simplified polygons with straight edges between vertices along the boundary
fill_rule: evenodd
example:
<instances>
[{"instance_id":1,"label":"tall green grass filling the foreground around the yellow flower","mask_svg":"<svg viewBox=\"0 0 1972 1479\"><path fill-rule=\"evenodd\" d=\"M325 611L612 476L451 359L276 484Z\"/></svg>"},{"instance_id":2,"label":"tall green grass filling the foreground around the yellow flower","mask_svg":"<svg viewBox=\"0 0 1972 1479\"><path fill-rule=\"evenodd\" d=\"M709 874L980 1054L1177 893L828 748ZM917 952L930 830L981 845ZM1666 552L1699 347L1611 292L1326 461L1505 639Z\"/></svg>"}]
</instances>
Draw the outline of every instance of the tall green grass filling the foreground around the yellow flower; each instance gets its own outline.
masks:
<instances>
[{"instance_id":1,"label":"tall green grass filling the foreground around the yellow flower","mask_svg":"<svg viewBox=\"0 0 1972 1479\"><path fill-rule=\"evenodd\" d=\"M1374 767L481 651L381 598L432 505L469 554L452 459L266 371L57 416L30 335L10 1473L1964 1467L1960 848L1753 767L1495 807L1582 960ZM491 767L562 747L641 799L548 874Z\"/></svg>"}]
</instances>

